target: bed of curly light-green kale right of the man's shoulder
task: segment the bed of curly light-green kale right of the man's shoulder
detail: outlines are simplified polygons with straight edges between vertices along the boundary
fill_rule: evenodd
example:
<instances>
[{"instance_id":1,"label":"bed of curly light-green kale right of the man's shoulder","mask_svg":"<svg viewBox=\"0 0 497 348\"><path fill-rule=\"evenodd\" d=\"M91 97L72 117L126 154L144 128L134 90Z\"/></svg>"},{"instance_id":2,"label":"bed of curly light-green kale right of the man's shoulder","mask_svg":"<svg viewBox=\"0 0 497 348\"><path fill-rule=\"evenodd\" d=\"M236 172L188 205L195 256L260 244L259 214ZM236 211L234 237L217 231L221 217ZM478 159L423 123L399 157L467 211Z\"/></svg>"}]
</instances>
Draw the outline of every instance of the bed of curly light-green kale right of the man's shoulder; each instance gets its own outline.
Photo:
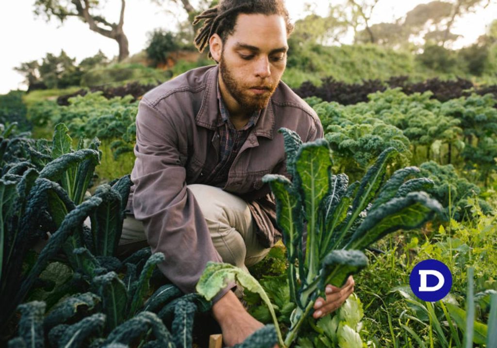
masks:
<instances>
[{"instance_id":1,"label":"bed of curly light-green kale right of the man's shoulder","mask_svg":"<svg viewBox=\"0 0 497 348\"><path fill-rule=\"evenodd\" d=\"M327 130L339 171L360 177L381 151L394 147L398 167L430 160L454 163L478 170L475 179L488 185L497 169L495 97L472 94L440 102L432 95L406 95L395 88L371 93L369 102L354 105L310 101Z\"/></svg>"}]
</instances>

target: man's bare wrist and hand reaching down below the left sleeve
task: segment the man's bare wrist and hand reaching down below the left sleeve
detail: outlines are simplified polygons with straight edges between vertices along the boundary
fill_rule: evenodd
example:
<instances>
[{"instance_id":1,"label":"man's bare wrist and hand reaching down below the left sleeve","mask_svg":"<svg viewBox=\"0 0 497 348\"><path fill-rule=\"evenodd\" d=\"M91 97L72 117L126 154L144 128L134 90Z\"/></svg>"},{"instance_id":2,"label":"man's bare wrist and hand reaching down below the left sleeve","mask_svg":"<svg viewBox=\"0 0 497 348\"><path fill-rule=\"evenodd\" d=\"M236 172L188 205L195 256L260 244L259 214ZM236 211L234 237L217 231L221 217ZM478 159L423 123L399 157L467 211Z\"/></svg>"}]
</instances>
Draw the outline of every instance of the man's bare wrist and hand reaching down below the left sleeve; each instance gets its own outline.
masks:
<instances>
[{"instance_id":1,"label":"man's bare wrist and hand reaching down below the left sleeve","mask_svg":"<svg viewBox=\"0 0 497 348\"><path fill-rule=\"evenodd\" d=\"M242 343L248 336L264 326L248 314L232 291L228 291L212 306L212 313L221 326L223 341L227 347Z\"/></svg>"}]
</instances>

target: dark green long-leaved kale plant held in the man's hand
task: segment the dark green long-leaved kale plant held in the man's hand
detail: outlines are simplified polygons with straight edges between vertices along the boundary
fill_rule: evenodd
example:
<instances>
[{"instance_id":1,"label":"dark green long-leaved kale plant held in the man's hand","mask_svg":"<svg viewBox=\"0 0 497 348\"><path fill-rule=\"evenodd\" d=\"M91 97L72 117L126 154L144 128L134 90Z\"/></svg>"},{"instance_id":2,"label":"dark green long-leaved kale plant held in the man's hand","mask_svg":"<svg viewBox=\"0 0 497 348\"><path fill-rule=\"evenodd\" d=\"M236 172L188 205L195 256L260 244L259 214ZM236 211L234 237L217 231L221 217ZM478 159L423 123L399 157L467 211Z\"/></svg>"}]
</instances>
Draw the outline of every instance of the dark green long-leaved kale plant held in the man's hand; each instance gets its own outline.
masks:
<instances>
[{"instance_id":1,"label":"dark green long-leaved kale plant held in the man's hand","mask_svg":"<svg viewBox=\"0 0 497 348\"><path fill-rule=\"evenodd\" d=\"M325 286L340 287L350 274L367 265L364 249L389 233L422 226L440 214L442 207L422 192L433 181L416 177L417 168L398 170L387 180L387 168L397 155L393 148L382 152L360 182L349 185L347 175L331 172L326 140L302 144L295 132L280 131L292 180L268 174L263 181L269 183L276 197L277 223L289 262L290 299L296 305L286 338L281 335L267 294L242 269L209 262L196 289L210 300L227 281L238 280L261 296L273 318L280 346L290 347L310 318L316 299L325 295Z\"/></svg>"}]
</instances>

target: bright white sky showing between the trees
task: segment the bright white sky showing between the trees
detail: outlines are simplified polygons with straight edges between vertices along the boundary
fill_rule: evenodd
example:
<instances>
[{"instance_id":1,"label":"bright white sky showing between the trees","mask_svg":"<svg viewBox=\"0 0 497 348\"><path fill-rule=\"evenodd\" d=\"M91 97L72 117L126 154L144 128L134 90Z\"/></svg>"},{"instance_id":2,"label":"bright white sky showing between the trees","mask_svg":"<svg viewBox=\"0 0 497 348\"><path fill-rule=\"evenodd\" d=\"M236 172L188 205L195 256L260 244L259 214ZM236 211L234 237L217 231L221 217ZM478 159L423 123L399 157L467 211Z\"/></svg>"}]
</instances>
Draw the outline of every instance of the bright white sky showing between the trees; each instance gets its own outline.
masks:
<instances>
[{"instance_id":1,"label":"bright white sky showing between the trees","mask_svg":"<svg viewBox=\"0 0 497 348\"><path fill-rule=\"evenodd\" d=\"M407 11L419 3L430 0L380 0L375 8L371 24L392 21L402 17ZM292 20L306 15L303 13L302 0L286 0ZM330 1L320 0L314 8L316 13L326 13ZM60 24L53 18L46 22L44 18L35 18L33 13L34 0L0 0L0 94L10 89L27 89L23 83L24 77L13 70L22 62L39 60L47 53L59 55L61 49L80 62L86 57L95 55L101 50L107 57L113 57L118 52L116 41L91 31L87 24L77 18L70 18ZM117 22L121 1L103 0L105 5L102 14L110 22ZM195 3L195 0L192 0ZM129 51L133 55L147 46L148 32L155 28L174 30L178 20L186 17L184 11L175 10L168 6L153 4L150 0L127 0L124 32L128 37ZM179 13L179 14L178 14ZM485 33L487 26L497 17L497 3L475 14L468 14L455 23L453 32L460 34L454 48L466 46L474 42L478 36Z\"/></svg>"}]
</instances>

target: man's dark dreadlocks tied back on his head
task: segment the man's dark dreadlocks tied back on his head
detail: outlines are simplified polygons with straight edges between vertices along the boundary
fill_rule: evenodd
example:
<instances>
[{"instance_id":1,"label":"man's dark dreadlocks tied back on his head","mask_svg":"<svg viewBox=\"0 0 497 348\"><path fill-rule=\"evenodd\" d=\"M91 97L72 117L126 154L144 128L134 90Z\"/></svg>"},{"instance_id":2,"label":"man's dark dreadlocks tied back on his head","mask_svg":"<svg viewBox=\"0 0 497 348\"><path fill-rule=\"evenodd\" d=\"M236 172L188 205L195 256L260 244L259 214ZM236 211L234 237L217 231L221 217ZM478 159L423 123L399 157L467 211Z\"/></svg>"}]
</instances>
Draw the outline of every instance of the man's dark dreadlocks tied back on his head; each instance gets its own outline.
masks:
<instances>
[{"instance_id":1,"label":"man's dark dreadlocks tied back on his head","mask_svg":"<svg viewBox=\"0 0 497 348\"><path fill-rule=\"evenodd\" d=\"M238 15L241 13L281 15L285 19L287 35L293 31L293 24L283 0L220 0L218 5L203 11L193 21L193 25L204 21L194 40L197 49L202 52L214 34L218 34L225 42L228 35L233 34ZM210 52L208 56L212 58Z\"/></svg>"}]
</instances>

